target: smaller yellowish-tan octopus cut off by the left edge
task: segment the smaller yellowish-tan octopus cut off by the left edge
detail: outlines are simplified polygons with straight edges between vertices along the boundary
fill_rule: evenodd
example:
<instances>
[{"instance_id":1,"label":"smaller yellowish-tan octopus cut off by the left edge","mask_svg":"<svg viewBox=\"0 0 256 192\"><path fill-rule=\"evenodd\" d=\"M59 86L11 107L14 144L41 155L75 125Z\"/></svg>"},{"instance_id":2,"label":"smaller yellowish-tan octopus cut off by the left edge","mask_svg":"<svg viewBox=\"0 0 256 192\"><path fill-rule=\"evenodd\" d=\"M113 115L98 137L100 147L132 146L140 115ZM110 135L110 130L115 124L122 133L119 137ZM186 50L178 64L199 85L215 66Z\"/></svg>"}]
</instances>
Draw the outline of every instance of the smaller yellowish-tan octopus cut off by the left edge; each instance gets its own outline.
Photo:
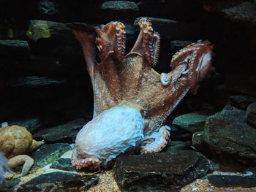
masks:
<instances>
[{"instance_id":1,"label":"smaller yellowish-tan octopus cut off by the left edge","mask_svg":"<svg viewBox=\"0 0 256 192\"><path fill-rule=\"evenodd\" d=\"M6 122L0 128L0 135L0 152L7 158L8 166L15 168L23 165L20 176L26 175L34 164L34 159L26 153L36 150L45 142L34 140L25 127L8 126ZM4 156L1 155L1 161L5 161Z\"/></svg>"}]
</instances>

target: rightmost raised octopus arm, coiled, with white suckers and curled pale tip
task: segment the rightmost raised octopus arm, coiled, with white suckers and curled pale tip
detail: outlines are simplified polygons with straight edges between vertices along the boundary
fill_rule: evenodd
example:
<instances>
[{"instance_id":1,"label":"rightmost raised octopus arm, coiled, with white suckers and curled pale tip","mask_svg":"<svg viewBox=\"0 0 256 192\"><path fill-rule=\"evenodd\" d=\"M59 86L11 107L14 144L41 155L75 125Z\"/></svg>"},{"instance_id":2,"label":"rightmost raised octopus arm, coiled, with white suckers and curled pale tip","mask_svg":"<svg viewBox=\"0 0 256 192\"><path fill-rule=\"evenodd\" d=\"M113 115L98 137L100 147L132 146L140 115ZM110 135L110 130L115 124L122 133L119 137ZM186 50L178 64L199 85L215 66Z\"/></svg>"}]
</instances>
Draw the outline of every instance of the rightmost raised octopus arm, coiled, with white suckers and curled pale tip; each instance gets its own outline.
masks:
<instances>
[{"instance_id":1,"label":"rightmost raised octopus arm, coiled, with white suckers and curled pale tip","mask_svg":"<svg viewBox=\"0 0 256 192\"><path fill-rule=\"evenodd\" d=\"M162 85L169 85L170 82L176 82L181 74L188 74L189 86L192 93L196 93L197 82L202 80L206 77L208 72L213 70L211 67L212 48L210 42L202 42L199 40L196 43L192 43L178 50L170 61L170 66L175 70L168 74L161 74L160 80ZM203 68L203 70L198 68ZM199 72L201 74L199 74Z\"/></svg>"}]
</instances>

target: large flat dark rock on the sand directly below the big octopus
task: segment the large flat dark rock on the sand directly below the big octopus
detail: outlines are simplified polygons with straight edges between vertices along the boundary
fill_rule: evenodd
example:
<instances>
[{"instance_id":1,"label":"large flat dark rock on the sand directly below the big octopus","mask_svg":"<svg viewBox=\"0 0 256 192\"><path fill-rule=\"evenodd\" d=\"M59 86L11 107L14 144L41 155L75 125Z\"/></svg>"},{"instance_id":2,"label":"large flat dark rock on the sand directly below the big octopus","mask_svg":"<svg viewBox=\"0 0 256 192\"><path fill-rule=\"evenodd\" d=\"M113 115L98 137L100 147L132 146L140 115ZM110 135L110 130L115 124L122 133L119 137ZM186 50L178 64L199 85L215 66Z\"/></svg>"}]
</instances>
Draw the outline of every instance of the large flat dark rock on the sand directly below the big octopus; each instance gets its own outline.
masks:
<instances>
[{"instance_id":1,"label":"large flat dark rock on the sand directly below the big octopus","mask_svg":"<svg viewBox=\"0 0 256 192\"><path fill-rule=\"evenodd\" d=\"M122 191L178 191L211 170L208 159L192 150L124 155L113 174Z\"/></svg>"}]
</instances>

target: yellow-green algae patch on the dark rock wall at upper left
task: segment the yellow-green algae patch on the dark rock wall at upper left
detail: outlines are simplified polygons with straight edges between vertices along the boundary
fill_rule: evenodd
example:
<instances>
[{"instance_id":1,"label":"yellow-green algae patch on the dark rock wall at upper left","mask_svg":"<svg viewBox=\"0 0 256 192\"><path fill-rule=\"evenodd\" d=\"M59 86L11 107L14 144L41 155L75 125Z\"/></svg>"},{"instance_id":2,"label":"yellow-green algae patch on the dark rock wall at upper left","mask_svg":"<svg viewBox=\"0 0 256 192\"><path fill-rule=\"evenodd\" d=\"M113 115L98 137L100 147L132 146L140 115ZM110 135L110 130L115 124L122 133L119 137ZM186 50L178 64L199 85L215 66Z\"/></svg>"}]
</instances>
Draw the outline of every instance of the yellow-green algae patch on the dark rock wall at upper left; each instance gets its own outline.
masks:
<instances>
[{"instance_id":1,"label":"yellow-green algae patch on the dark rock wall at upper left","mask_svg":"<svg viewBox=\"0 0 256 192\"><path fill-rule=\"evenodd\" d=\"M40 38L50 38L50 29L48 22L45 20L31 20L26 36L34 41Z\"/></svg>"}]
</instances>

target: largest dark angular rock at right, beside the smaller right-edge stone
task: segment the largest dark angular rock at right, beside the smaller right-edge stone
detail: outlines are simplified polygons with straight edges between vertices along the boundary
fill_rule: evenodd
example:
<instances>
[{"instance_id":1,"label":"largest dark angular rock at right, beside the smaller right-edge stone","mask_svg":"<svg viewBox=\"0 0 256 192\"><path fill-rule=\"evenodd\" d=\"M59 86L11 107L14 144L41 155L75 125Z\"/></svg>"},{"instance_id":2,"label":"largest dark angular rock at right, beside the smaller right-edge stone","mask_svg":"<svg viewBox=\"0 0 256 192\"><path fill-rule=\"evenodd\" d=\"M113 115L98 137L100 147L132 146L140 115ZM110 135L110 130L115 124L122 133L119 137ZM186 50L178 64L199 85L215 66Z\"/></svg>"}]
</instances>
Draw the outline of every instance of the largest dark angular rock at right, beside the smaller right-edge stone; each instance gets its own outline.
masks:
<instances>
[{"instance_id":1,"label":"largest dark angular rock at right, beside the smaller right-edge stone","mask_svg":"<svg viewBox=\"0 0 256 192\"><path fill-rule=\"evenodd\" d=\"M206 119L204 141L217 151L256 158L256 129L246 124L246 112L227 106Z\"/></svg>"}]
</instances>

